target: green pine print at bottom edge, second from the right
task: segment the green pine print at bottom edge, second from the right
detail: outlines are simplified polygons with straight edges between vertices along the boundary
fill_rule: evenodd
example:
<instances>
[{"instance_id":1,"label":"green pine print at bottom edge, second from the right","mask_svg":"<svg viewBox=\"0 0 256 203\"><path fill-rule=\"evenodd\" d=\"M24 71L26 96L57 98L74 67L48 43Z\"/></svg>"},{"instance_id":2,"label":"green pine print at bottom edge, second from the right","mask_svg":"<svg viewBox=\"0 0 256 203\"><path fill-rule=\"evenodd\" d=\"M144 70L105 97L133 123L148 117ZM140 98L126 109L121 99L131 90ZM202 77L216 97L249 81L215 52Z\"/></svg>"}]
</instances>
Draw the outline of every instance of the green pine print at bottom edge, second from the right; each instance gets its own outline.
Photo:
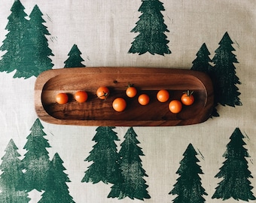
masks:
<instances>
[{"instance_id":1,"label":"green pine print at bottom edge, second from the right","mask_svg":"<svg viewBox=\"0 0 256 203\"><path fill-rule=\"evenodd\" d=\"M197 165L197 152L192 144L189 144L183 154L184 158L180 162L180 167L176 174L180 177L177 179L174 188L169 195L178 195L174 203L203 203L206 200L203 195L207 195L203 189L199 174L203 174L200 165Z\"/></svg>"}]
</instances>

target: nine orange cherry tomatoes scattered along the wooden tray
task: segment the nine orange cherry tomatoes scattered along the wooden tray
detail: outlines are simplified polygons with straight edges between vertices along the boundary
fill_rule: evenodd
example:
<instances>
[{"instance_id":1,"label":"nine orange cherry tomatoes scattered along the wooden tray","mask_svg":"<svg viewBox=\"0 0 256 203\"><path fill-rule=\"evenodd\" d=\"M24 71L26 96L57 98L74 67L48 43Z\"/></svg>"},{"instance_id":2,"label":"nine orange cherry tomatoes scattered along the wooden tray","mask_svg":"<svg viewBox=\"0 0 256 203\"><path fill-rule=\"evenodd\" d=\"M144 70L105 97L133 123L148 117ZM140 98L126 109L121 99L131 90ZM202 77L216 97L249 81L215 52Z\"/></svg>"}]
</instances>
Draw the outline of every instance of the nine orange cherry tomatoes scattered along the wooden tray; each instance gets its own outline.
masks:
<instances>
[{"instance_id":1,"label":"nine orange cherry tomatoes scattered along the wooden tray","mask_svg":"<svg viewBox=\"0 0 256 203\"><path fill-rule=\"evenodd\" d=\"M100 86L99 89L96 90L96 95L100 99L106 99L108 98L108 95L110 94L110 91L107 86ZM133 85L128 85L126 89L126 95L130 98L134 98L137 95L137 89ZM167 102L169 100L169 92L166 89L160 89L157 92L157 100L159 102ZM88 94L85 91L78 91L75 92L74 98L77 102L83 103L87 102ZM66 104L69 101L69 97L66 93L59 93L56 95L56 102L60 105ZM150 97L142 93L138 97L138 102L140 105L148 105L150 102ZM182 105L192 105L194 103L194 95L193 91L190 92L187 90L186 92L183 92L181 95L181 99L174 99L171 102L169 102L169 111L171 111L173 114L178 114L181 109ZM126 100L122 97L114 98L114 101L112 102L112 107L115 111L121 112L126 109Z\"/></svg>"}]
</instances>

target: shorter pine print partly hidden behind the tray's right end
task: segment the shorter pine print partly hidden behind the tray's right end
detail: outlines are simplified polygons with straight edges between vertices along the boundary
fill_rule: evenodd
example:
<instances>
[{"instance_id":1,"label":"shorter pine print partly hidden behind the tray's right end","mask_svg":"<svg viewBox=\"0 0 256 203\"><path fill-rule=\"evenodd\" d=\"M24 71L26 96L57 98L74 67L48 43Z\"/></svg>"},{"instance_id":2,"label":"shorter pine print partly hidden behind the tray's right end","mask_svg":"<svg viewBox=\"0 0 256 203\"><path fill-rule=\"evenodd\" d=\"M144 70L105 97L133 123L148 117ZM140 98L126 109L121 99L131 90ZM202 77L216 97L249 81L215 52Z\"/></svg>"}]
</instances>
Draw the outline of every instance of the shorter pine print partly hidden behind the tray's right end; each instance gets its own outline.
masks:
<instances>
[{"instance_id":1,"label":"shorter pine print partly hidden behind the tray's right end","mask_svg":"<svg viewBox=\"0 0 256 203\"><path fill-rule=\"evenodd\" d=\"M191 70L201 71L206 74L209 74L209 77L211 77L212 82L214 82L213 73L212 73L212 65L209 64L209 62L212 62L212 59L209 58L209 55L211 55L211 53L209 52L208 48L206 47L206 43L203 43L203 45L200 47L200 50L197 52L197 58L194 59L194 61L192 62L193 65L191 67ZM220 116L216 109L217 106L218 106L218 102L215 101L215 108L213 108L213 110L212 110L212 117Z\"/></svg>"}]
</instances>

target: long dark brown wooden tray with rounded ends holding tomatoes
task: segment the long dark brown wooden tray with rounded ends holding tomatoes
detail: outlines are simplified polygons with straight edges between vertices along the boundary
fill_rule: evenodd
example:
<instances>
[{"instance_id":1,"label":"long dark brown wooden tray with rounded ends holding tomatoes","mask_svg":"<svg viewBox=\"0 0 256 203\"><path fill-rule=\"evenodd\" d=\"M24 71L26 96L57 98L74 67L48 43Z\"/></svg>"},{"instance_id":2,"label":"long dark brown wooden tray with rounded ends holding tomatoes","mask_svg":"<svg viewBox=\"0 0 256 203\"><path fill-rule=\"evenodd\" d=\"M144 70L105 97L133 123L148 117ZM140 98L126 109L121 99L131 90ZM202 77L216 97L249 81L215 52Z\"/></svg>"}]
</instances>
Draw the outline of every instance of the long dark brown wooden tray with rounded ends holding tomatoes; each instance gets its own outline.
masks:
<instances>
[{"instance_id":1,"label":"long dark brown wooden tray with rounded ends holding tomatoes","mask_svg":"<svg viewBox=\"0 0 256 203\"><path fill-rule=\"evenodd\" d=\"M136 98L128 98L125 89L133 83ZM96 97L99 86L108 86L106 100ZM184 106L178 114L169 111L169 102L157 101L157 91L166 89L169 102L179 99L187 89L194 91L195 102ZM78 103L72 97L76 91L89 94L87 102ZM56 104L56 94L66 92L69 102ZM147 93L151 102L142 106L137 98ZM126 99L123 112L112 108L114 98ZM79 126L181 126L206 121L214 100L212 81L199 71L173 68L61 68L41 73L35 82L35 111L41 120L54 124Z\"/></svg>"}]
</instances>

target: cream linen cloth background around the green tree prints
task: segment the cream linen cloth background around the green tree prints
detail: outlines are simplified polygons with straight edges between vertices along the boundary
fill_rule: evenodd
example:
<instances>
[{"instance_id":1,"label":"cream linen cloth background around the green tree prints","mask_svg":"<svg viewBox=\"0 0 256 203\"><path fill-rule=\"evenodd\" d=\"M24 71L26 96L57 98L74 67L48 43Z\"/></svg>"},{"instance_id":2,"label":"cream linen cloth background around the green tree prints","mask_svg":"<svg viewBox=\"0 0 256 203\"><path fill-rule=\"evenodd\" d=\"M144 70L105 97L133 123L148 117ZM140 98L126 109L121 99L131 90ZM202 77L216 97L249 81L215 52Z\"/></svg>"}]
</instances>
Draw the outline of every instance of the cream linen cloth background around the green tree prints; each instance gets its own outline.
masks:
<instances>
[{"instance_id":1,"label":"cream linen cloth background around the green tree prints","mask_svg":"<svg viewBox=\"0 0 256 203\"><path fill-rule=\"evenodd\" d=\"M172 202L175 198L168 193L173 189L178 175L175 174L182 154L188 144L193 144L200 160L204 174L202 186L209 195L204 195L206 202L220 202L212 199L215 187L221 179L215 178L224 162L222 157L230 135L239 127L245 138L245 148L248 149L248 169L251 171L252 192L256 195L256 99L255 87L255 44L256 44L256 3L254 0L162 0L166 11L163 11L166 26L170 32L168 36L171 54L152 56L145 53L128 54L131 42L136 36L130 32L139 20L139 0L55 0L32 1L23 0L21 3L30 14L32 8L38 5L44 14L44 23L50 32L49 47L55 56L53 68L62 68L67 54L73 44L81 50L84 64L90 66L135 66L135 67L166 67L191 68L192 61L203 43L206 43L209 52L214 56L218 43L228 32L233 40L234 54L239 63L236 66L236 75L242 82L238 85L242 106L236 108L218 107L221 117L209 119L205 123L194 126L175 127L135 127L139 144L145 156L142 156L142 165L148 177L148 192L150 199L145 202ZM8 33L5 26L7 17L11 14L14 1L2 0L0 3L0 44ZM0 53L2 56L4 53ZM24 154L23 146L29 129L37 119L34 110L34 83L35 77L27 80L13 78L11 74L0 73L0 157L5 154L5 147L11 138ZM141 202L124 198L106 198L111 184L81 183L87 166L84 162L95 144L92 141L96 126L56 126L41 122L44 132L47 133L51 148L48 149L50 159L58 152L64 161L66 174L72 181L68 183L70 195L75 202ZM126 132L125 127L117 127L121 141ZM119 147L119 143L118 143ZM21 157L23 158L23 156ZM37 202L41 193L33 190L29 192L30 202ZM234 202L233 198L227 203Z\"/></svg>"}]
</instances>

